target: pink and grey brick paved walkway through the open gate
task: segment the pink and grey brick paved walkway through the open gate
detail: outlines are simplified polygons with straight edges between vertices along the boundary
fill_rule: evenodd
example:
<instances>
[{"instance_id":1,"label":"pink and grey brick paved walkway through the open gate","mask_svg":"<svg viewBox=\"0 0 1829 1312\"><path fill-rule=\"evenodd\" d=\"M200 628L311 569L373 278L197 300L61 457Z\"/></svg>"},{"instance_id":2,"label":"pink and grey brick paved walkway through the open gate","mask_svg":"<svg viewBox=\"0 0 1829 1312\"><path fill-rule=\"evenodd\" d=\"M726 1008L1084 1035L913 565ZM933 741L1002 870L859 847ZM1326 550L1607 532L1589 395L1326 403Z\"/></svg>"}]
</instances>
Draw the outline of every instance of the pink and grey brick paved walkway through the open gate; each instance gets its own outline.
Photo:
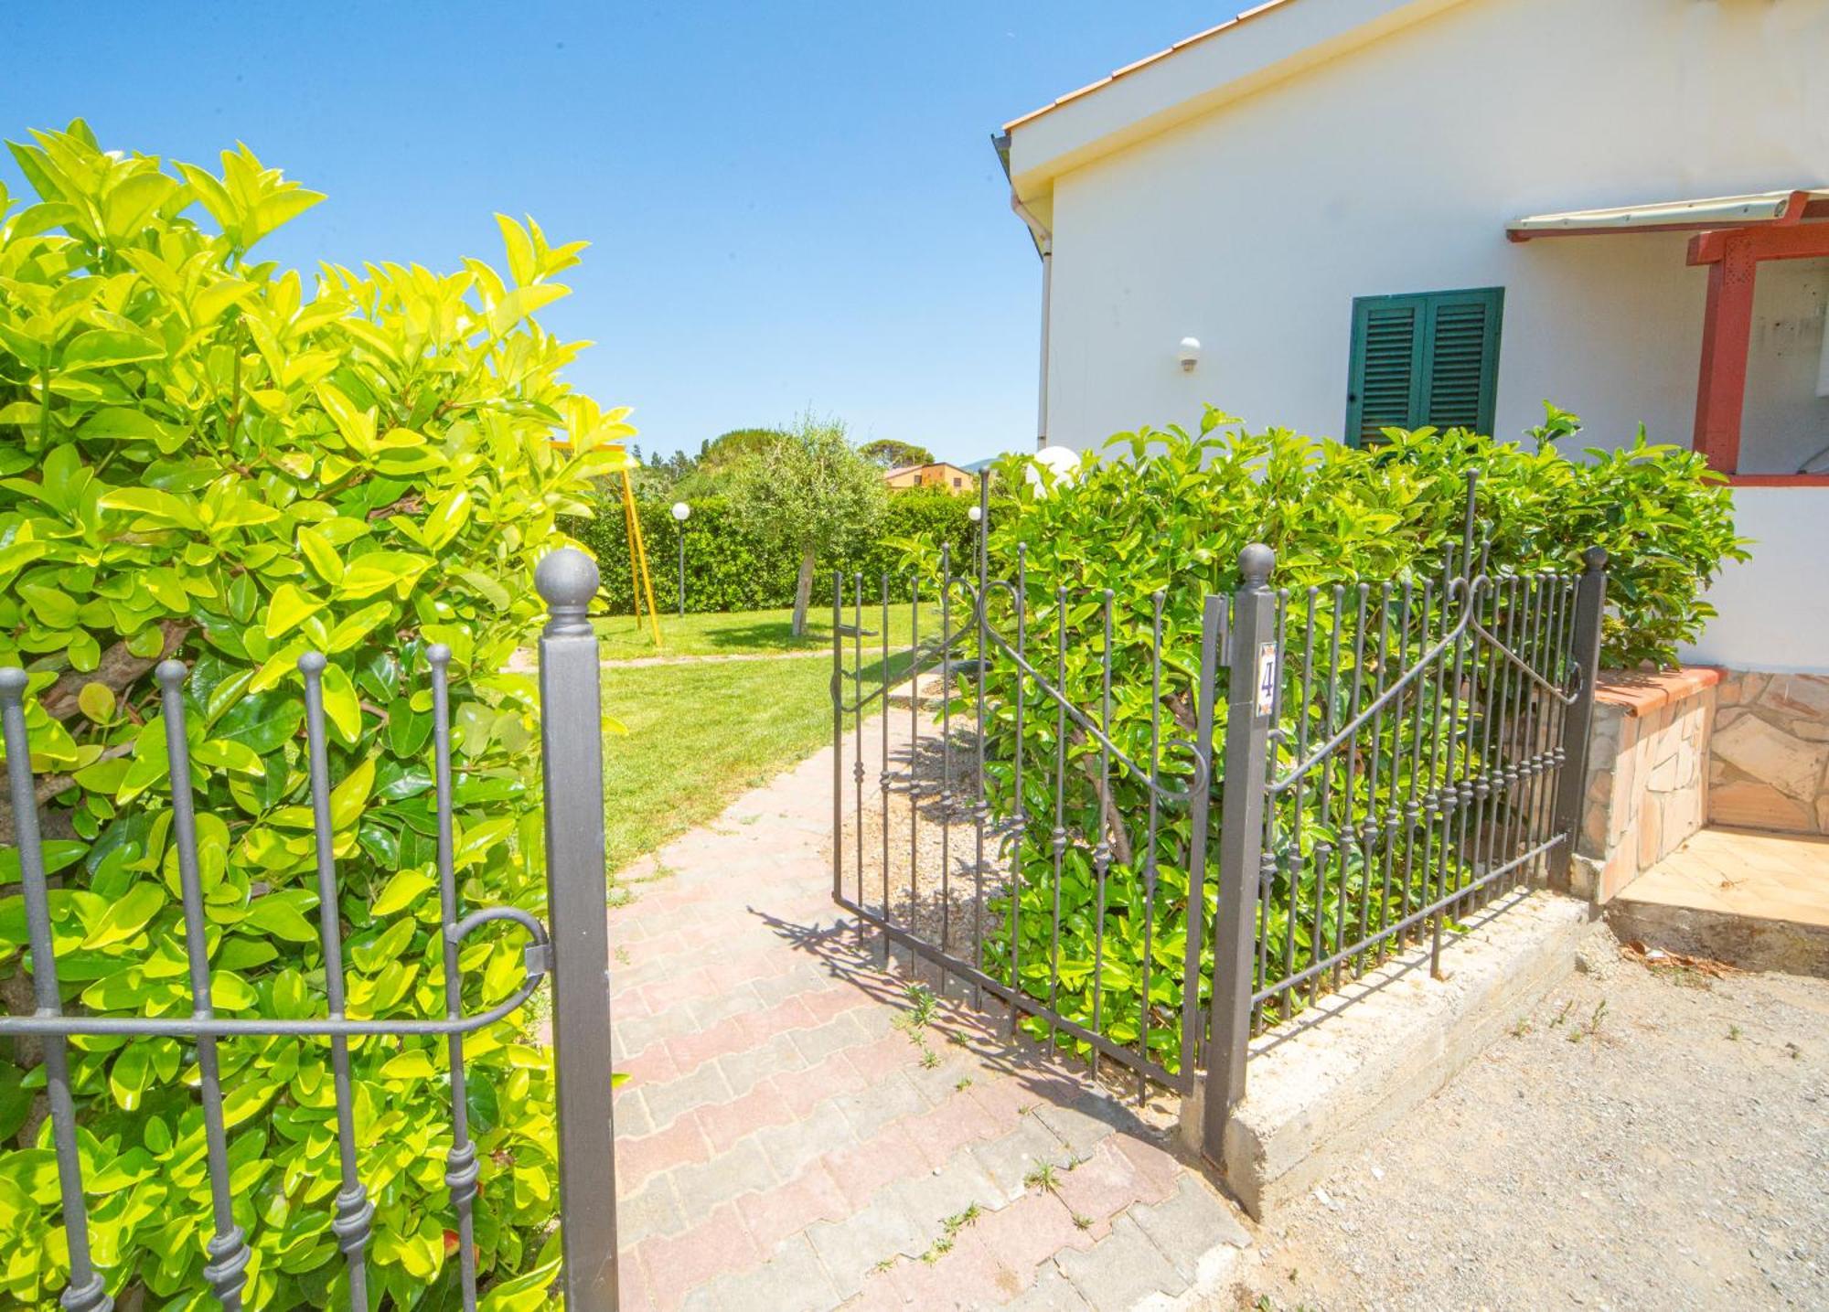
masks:
<instances>
[{"instance_id":1,"label":"pink and grey brick paved walkway through the open gate","mask_svg":"<svg viewBox=\"0 0 1829 1312\"><path fill-rule=\"evenodd\" d=\"M830 903L830 782L827 751L626 872L624 1307L1202 1305L1247 1243L1233 1206L1163 1109L969 1012L911 1023Z\"/></svg>"}]
</instances>

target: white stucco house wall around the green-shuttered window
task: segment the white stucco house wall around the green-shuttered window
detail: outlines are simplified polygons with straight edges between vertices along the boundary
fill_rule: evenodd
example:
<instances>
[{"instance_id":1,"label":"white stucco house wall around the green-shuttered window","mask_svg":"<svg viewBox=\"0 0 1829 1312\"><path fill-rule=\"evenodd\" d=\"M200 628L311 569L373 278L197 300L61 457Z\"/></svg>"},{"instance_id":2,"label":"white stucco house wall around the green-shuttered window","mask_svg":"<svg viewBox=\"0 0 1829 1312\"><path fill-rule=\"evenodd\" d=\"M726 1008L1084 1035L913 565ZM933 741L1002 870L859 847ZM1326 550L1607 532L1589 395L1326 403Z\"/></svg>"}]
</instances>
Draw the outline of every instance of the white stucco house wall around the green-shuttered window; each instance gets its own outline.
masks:
<instances>
[{"instance_id":1,"label":"white stucco house wall around the green-shuttered window","mask_svg":"<svg viewBox=\"0 0 1829 1312\"><path fill-rule=\"evenodd\" d=\"M1500 433L1553 398L1599 444L1639 420L1686 444L1706 287L1686 238L1514 245L1503 225L1813 183L1829 183L1829 0L1463 0L1054 179L1050 437L1090 446L1202 400L1339 435L1353 296L1502 285ZM1822 305L1829 269L1759 278L1743 468L1789 471L1829 444L1802 375L1820 309L1814 329L1794 312ZM1189 334L1205 358L1182 373ZM1791 378L1769 402L1763 384Z\"/></svg>"}]
</instances>

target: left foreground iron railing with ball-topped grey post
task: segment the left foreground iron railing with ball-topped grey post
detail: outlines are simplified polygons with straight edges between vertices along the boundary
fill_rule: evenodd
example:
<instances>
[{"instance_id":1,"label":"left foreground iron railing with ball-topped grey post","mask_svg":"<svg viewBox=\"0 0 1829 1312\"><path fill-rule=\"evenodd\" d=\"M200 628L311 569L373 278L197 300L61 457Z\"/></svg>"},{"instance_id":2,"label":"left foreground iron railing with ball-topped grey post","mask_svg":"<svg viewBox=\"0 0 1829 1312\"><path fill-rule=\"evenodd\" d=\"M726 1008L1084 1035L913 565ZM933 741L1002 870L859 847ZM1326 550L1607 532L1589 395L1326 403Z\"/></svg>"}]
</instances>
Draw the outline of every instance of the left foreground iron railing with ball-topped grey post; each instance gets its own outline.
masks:
<instances>
[{"instance_id":1,"label":"left foreground iron railing with ball-topped grey post","mask_svg":"<svg viewBox=\"0 0 1829 1312\"><path fill-rule=\"evenodd\" d=\"M305 735L309 751L311 817L316 844L320 945L324 952L326 1016L280 1020L218 1016L210 1005L210 965L205 947L205 890L198 866L198 833L192 800L192 762L185 736L188 674L168 660L155 671L165 711L172 786L172 842L177 852L185 912L192 1010L188 1016L86 1016L64 1010L57 956L51 941L49 888L38 835L38 800L26 735L27 674L0 669L0 718L4 718L7 775L18 839L20 877L33 965L35 1012L0 1016L0 1034L31 1034L44 1043L44 1071L51 1138L57 1149L62 1221L70 1248L70 1285L62 1305L71 1312L106 1312L113 1307L88 1239L82 1160L77 1146L77 1111L70 1087L68 1040L77 1036L177 1038L196 1043L205 1149L214 1235L209 1241L205 1279L225 1308L241 1307L251 1250L234 1221L229 1142L223 1126L223 1080L218 1040L232 1036L293 1034L329 1043L337 1102L337 1151L340 1190L335 1195L331 1232L346 1257L351 1305L369 1307L366 1248L375 1213L360 1173L353 1098L349 1087L349 1040L362 1036L444 1036L452 1104L452 1146L444 1159L452 1211L459 1233L463 1303L476 1307L477 1274L472 1235L472 1204L477 1197L477 1155L470 1142L465 1098L463 1040L521 1007L551 976L552 1060L558 1091L558 1171L563 1219L563 1274L560 1288L572 1312L613 1312L616 1307L616 1210L611 1127L609 1049L609 934L604 884L604 762L598 711L596 636L585 607L596 594L596 565L583 552L562 548L549 554L536 574L549 621L540 638L540 707L545 778L547 934L534 915L514 906L487 906L463 914L452 853L452 738L450 738L450 649L424 649L433 702L433 773L437 789L439 923L444 959L444 1016L435 1020L351 1020L344 1014L344 952L338 917L335 826L329 764L324 733L326 658L307 652L298 669L305 689ZM518 925L527 934L525 974L519 987L488 1010L463 1014L459 947L496 921Z\"/></svg>"}]
</instances>

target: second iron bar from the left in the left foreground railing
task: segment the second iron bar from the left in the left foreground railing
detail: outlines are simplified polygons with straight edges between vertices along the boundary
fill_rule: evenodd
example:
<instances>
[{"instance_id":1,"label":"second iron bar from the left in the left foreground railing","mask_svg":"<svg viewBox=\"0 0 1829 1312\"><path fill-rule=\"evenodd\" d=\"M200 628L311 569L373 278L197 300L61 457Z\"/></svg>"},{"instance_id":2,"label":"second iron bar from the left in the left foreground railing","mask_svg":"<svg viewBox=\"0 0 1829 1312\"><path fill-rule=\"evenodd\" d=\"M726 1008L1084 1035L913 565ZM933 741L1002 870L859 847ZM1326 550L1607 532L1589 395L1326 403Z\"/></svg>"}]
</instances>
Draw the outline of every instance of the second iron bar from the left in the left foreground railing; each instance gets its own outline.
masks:
<instances>
[{"instance_id":1,"label":"second iron bar from the left in the left foreground railing","mask_svg":"<svg viewBox=\"0 0 1829 1312\"><path fill-rule=\"evenodd\" d=\"M210 998L210 948L203 926L203 877L198 872L198 817L190 782L190 740L185 736L185 676L179 660L159 661L154 671L165 705L165 755L172 780L172 844L177 848L177 883L185 903L185 958L190 965L190 1010L198 1018L216 1014ZM252 1257L247 1235L234 1222L234 1195L229 1190L229 1135L223 1127L221 1065L216 1038L198 1038L198 1093L203 1100L203 1149L210 1175L210 1215L216 1233L209 1241L210 1261L203 1266L216 1301L240 1312L247 1263Z\"/></svg>"}]
</instances>

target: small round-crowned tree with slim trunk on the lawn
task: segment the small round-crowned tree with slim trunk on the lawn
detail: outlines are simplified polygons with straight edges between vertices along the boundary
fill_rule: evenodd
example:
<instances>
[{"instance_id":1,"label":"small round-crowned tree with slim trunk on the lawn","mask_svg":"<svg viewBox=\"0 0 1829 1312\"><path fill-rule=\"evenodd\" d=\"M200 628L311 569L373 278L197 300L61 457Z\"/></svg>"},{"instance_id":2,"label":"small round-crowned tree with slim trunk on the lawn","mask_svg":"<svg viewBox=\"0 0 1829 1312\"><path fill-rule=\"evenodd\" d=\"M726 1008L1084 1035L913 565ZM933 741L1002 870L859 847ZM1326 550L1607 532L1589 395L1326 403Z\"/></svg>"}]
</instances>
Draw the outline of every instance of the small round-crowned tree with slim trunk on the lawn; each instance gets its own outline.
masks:
<instances>
[{"instance_id":1,"label":"small round-crowned tree with slim trunk on the lawn","mask_svg":"<svg viewBox=\"0 0 1829 1312\"><path fill-rule=\"evenodd\" d=\"M796 638L807 632L816 557L867 539L883 515L885 499L882 470L858 453L845 426L812 415L774 433L768 446L732 473L730 503L744 530L799 552Z\"/></svg>"}]
</instances>

